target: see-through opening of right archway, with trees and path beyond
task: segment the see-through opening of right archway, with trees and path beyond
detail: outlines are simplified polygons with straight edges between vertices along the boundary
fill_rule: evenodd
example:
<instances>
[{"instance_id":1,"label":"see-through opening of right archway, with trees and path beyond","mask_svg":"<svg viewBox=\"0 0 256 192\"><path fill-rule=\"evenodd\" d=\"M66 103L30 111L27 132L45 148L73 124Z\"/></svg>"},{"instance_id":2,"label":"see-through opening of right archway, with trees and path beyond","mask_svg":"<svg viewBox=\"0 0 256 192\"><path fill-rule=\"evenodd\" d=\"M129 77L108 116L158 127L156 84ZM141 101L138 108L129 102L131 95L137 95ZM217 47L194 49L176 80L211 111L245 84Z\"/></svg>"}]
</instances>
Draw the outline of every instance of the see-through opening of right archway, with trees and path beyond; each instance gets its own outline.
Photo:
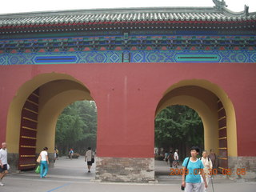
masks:
<instances>
[{"instance_id":1,"label":"see-through opening of right archway, with trees and path beyond","mask_svg":"<svg viewBox=\"0 0 256 192\"><path fill-rule=\"evenodd\" d=\"M170 175L174 171L174 152L184 159L190 152L191 145L204 149L203 123L198 113L188 106L167 106L155 118L155 175ZM170 153L171 151L171 153ZM175 174L174 174L175 175Z\"/></svg>"}]
</instances>

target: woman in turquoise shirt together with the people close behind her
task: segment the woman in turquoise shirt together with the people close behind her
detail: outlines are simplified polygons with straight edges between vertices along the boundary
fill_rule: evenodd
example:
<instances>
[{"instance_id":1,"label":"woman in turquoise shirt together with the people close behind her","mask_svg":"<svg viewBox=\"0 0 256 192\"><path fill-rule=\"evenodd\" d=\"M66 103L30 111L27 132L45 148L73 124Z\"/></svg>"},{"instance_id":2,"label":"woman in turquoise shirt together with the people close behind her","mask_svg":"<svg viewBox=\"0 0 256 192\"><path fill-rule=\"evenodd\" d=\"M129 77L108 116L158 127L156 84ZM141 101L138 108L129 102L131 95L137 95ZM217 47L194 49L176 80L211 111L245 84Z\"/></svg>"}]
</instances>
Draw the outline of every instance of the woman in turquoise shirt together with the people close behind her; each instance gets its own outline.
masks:
<instances>
[{"instance_id":1,"label":"woman in turquoise shirt together with the people close behind her","mask_svg":"<svg viewBox=\"0 0 256 192\"><path fill-rule=\"evenodd\" d=\"M198 158L199 148L193 146L190 149L190 157L185 158L182 174L182 188L186 192L205 192L211 178L211 170L216 166L216 154L210 150L202 151L202 158Z\"/></svg>"}]
</instances>

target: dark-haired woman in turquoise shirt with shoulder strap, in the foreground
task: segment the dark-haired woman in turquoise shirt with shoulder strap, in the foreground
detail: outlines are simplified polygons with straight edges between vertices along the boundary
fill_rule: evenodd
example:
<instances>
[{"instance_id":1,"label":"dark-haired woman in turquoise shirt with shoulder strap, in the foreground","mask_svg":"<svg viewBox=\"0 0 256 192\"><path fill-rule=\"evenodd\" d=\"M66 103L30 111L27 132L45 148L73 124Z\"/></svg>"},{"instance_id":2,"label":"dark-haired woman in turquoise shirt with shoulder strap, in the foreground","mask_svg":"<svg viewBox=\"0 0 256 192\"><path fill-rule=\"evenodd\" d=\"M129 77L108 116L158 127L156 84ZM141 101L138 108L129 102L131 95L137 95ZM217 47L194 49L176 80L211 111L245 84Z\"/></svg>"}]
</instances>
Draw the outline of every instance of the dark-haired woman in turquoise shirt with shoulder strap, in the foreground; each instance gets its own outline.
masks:
<instances>
[{"instance_id":1,"label":"dark-haired woman in turquoise shirt with shoulder strap, in the foreground","mask_svg":"<svg viewBox=\"0 0 256 192\"><path fill-rule=\"evenodd\" d=\"M200 174L202 175L205 187L208 187L206 175L203 171L204 166L202 165L202 161L198 159L198 154L199 148L192 146L190 149L191 157L185 158L182 164L182 187L185 187L186 192L201 192L202 182Z\"/></svg>"}]
</instances>

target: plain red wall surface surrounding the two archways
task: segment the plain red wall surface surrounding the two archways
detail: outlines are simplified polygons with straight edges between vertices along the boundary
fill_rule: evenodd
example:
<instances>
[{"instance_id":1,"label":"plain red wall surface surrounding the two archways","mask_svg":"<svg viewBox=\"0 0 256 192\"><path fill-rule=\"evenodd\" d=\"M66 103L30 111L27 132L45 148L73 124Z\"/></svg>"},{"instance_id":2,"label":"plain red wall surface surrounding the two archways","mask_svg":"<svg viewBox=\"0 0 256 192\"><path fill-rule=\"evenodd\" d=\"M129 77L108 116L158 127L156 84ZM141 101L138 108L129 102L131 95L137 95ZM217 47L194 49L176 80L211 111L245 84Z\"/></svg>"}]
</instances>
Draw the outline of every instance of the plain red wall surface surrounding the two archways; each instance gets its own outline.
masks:
<instances>
[{"instance_id":1,"label":"plain red wall surface surrounding the two archways","mask_svg":"<svg viewBox=\"0 0 256 192\"><path fill-rule=\"evenodd\" d=\"M254 63L113 63L0 66L0 142L18 88L43 73L70 74L84 82L98 106L98 156L154 157L154 112L162 94L185 79L206 79L234 104L238 156L256 156Z\"/></svg>"}]
</instances>

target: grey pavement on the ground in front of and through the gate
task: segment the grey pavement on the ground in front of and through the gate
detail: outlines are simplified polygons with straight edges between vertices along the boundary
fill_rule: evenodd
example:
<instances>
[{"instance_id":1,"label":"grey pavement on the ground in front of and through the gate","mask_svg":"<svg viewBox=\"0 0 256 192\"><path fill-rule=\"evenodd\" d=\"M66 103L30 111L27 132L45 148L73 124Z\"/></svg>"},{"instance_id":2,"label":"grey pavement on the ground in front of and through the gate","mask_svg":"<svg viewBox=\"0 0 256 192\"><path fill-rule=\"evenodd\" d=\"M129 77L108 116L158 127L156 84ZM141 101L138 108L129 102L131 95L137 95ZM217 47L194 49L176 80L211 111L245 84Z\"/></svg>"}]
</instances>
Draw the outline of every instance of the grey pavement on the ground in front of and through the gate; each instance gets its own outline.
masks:
<instances>
[{"instance_id":1,"label":"grey pavement on the ground in front of and through the gate","mask_svg":"<svg viewBox=\"0 0 256 192\"><path fill-rule=\"evenodd\" d=\"M39 178L34 171L9 174L1 186L1 192L67 192L67 191L93 191L93 192L166 192L181 191L181 176L170 176L169 166L165 162L156 162L156 179L152 183L120 183L98 182L94 180L95 165L92 172L86 170L83 157L78 159L59 158L54 168L51 168L47 178ZM214 178L214 191L252 192L255 191L256 182L233 182L224 177ZM212 186L208 191L213 191Z\"/></svg>"}]
</instances>

